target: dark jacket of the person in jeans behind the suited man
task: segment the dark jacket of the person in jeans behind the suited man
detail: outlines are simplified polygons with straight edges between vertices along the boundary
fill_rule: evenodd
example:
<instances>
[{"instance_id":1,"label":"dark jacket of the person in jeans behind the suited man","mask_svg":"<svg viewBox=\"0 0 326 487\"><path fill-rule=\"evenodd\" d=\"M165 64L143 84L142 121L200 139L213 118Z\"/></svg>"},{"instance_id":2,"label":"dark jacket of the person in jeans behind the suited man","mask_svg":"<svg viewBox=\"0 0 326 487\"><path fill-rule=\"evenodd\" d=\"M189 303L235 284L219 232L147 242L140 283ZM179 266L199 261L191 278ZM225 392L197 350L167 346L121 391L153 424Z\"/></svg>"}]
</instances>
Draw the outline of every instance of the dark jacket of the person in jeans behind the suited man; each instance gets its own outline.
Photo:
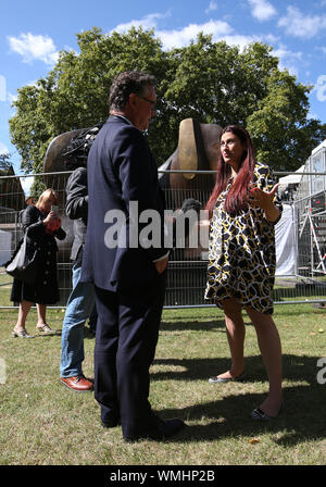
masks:
<instances>
[{"instance_id":1,"label":"dark jacket of the person in jeans behind the suited man","mask_svg":"<svg viewBox=\"0 0 326 487\"><path fill-rule=\"evenodd\" d=\"M86 167L76 168L71 175L65 188L66 215L74 220L74 241L71 252L71 259L78 261L82 259L83 246L86 238L87 214L88 214L88 190L87 190L87 170ZM78 254L79 253L79 254Z\"/></svg>"}]
</instances>

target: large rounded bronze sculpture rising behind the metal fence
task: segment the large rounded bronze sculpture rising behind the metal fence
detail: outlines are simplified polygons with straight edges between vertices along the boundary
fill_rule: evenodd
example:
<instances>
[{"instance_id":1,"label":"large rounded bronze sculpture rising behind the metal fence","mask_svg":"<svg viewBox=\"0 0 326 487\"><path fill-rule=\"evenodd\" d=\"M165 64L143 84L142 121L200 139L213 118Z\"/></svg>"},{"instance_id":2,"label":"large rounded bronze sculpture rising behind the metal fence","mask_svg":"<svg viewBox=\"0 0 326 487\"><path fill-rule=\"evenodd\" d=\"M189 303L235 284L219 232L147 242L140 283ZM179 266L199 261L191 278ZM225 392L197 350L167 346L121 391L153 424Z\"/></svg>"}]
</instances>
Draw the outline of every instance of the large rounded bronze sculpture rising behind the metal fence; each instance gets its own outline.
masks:
<instances>
[{"instance_id":1,"label":"large rounded bronze sculpture rising behind the metal fence","mask_svg":"<svg viewBox=\"0 0 326 487\"><path fill-rule=\"evenodd\" d=\"M86 166L88 151L101 126L100 123L91 128L71 130L54 137L45 157L43 172L71 171L80 165ZM220 125L202 124L195 118L183 120L179 125L178 146L159 167L161 187L193 190L200 189L203 183L211 187L214 184L214 174L200 176L195 172L216 170L221 133ZM163 171L184 171L184 173Z\"/></svg>"}]
</instances>

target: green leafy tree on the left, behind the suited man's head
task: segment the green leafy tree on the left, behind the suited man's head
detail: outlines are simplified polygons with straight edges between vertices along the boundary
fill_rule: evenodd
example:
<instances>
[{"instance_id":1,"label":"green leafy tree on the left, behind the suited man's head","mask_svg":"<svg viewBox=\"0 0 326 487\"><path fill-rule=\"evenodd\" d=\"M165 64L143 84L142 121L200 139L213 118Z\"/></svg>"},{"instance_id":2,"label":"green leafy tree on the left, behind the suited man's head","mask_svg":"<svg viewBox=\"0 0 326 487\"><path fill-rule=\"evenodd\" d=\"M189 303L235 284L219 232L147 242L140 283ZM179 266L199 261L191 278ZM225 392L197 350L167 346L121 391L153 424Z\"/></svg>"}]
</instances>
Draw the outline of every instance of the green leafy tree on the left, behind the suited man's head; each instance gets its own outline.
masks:
<instances>
[{"instance_id":1,"label":"green leafy tree on the left, behind the suited man's head","mask_svg":"<svg viewBox=\"0 0 326 487\"><path fill-rule=\"evenodd\" d=\"M112 78L126 70L164 77L165 53L153 34L135 28L126 35L77 34L80 53L62 51L54 68L35 86L18 90L10 120L12 141L25 172L40 172L49 142L59 134L105 121Z\"/></svg>"}]
</instances>

